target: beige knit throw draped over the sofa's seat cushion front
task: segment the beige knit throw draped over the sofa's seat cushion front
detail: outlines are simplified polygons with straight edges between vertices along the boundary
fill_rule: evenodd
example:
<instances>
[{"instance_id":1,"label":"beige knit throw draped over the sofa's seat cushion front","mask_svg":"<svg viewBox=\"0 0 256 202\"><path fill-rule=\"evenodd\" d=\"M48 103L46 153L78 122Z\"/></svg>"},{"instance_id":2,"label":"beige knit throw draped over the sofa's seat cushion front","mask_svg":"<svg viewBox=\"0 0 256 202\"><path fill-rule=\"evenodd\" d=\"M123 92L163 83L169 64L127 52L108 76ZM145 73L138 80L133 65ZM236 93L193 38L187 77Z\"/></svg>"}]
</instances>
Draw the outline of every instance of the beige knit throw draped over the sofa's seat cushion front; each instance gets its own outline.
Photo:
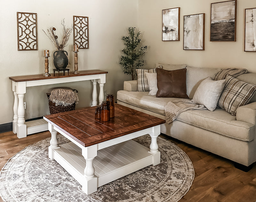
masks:
<instances>
[{"instance_id":1,"label":"beige knit throw draped over the sofa's seat cushion front","mask_svg":"<svg viewBox=\"0 0 256 202\"><path fill-rule=\"evenodd\" d=\"M191 100L180 99L170 101L164 107L166 122L171 123L180 115L181 112L187 111L189 109L203 110L207 108L205 108L204 105L196 104Z\"/></svg>"}]
</instances>

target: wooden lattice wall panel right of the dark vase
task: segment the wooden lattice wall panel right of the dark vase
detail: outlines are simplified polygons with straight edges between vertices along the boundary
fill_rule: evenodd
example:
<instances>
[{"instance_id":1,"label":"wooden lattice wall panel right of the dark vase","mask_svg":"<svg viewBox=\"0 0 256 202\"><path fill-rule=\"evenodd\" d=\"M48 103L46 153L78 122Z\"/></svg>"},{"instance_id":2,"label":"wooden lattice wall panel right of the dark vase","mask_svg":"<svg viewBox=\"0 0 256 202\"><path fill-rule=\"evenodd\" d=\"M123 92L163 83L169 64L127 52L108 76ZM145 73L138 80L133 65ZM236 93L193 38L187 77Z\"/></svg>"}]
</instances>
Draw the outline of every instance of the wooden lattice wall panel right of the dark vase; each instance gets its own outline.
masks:
<instances>
[{"instance_id":1,"label":"wooden lattice wall panel right of the dark vase","mask_svg":"<svg viewBox=\"0 0 256 202\"><path fill-rule=\"evenodd\" d=\"M89 49L88 17L73 16L74 45L78 49Z\"/></svg>"}]
</instances>

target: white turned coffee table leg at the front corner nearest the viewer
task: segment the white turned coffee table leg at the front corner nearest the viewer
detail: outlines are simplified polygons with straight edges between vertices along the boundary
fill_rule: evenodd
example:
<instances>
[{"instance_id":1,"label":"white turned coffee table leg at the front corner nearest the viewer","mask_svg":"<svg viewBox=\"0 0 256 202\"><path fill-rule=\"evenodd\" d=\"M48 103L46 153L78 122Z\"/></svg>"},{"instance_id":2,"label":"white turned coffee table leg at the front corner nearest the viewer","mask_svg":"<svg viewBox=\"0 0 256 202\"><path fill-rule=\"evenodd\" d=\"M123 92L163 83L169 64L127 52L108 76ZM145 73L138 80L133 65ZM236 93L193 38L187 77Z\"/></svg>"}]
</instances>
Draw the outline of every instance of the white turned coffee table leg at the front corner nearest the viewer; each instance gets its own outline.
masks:
<instances>
[{"instance_id":1,"label":"white turned coffee table leg at the front corner nearest the viewer","mask_svg":"<svg viewBox=\"0 0 256 202\"><path fill-rule=\"evenodd\" d=\"M84 168L84 182L82 183L82 190L87 194L97 191L97 177L95 176L95 169L93 167L93 160L97 156L97 145L92 145L82 148L82 155L86 160Z\"/></svg>"}]
</instances>

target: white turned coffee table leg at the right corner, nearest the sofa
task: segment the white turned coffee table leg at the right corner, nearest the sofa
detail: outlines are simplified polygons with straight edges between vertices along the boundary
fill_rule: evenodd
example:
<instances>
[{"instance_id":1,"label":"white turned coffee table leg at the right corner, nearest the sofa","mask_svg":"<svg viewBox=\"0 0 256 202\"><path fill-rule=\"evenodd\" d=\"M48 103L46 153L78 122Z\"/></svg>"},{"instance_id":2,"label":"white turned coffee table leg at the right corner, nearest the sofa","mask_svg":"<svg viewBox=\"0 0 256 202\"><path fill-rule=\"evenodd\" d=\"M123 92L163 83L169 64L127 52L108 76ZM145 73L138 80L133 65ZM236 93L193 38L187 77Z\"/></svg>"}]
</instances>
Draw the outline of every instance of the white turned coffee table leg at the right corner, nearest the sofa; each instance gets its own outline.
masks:
<instances>
[{"instance_id":1,"label":"white turned coffee table leg at the right corner, nearest the sofa","mask_svg":"<svg viewBox=\"0 0 256 202\"><path fill-rule=\"evenodd\" d=\"M153 166L160 163L160 152L158 151L157 137L160 135L160 125L154 126L152 132L149 133L151 137L150 151L148 153L153 154Z\"/></svg>"}]
</instances>

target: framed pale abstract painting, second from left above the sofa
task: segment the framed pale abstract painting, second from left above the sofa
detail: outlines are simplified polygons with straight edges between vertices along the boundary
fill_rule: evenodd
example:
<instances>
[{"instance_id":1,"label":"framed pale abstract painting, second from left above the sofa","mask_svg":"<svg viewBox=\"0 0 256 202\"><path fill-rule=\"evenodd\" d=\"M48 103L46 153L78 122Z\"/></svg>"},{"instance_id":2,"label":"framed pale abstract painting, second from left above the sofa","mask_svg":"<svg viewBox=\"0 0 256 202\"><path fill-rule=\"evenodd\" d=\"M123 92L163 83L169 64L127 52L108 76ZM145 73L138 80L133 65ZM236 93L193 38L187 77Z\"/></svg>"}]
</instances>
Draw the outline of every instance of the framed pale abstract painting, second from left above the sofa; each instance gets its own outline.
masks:
<instances>
[{"instance_id":1,"label":"framed pale abstract painting, second from left above the sofa","mask_svg":"<svg viewBox=\"0 0 256 202\"><path fill-rule=\"evenodd\" d=\"M183 50L204 50L205 13L185 15Z\"/></svg>"}]
</instances>

